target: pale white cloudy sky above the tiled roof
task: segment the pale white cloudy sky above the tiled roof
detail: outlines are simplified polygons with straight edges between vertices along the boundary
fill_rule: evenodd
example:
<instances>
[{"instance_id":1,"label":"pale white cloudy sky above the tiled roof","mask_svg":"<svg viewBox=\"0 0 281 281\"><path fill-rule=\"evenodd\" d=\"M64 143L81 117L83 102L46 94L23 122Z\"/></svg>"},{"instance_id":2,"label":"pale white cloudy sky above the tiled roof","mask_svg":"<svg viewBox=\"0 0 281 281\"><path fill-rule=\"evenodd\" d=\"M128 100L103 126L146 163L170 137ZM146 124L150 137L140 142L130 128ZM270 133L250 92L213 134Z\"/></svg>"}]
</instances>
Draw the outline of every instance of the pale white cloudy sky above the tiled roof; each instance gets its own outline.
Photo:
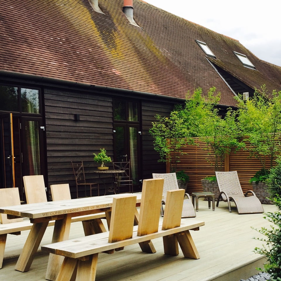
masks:
<instances>
[{"instance_id":1,"label":"pale white cloudy sky above the tiled roof","mask_svg":"<svg viewBox=\"0 0 281 281\"><path fill-rule=\"evenodd\" d=\"M239 40L258 58L281 66L280 0L145 0Z\"/></svg>"}]
</instances>

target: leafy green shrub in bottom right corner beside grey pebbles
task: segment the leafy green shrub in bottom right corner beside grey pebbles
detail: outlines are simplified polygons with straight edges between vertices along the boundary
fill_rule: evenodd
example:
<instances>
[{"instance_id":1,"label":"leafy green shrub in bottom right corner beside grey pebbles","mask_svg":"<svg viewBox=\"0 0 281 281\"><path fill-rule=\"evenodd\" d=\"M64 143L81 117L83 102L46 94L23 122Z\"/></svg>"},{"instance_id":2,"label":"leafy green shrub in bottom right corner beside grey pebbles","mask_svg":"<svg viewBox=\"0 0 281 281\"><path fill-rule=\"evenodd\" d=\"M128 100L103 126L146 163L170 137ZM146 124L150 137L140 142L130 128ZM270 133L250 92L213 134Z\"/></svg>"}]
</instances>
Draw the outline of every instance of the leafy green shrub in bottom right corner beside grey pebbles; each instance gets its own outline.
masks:
<instances>
[{"instance_id":1,"label":"leafy green shrub in bottom right corner beside grey pebbles","mask_svg":"<svg viewBox=\"0 0 281 281\"><path fill-rule=\"evenodd\" d=\"M272 200L277 205L279 211L266 213L264 218L275 226L271 225L271 229L266 229L265 227L259 230L256 229L259 233L265 235L266 238L255 238L263 241L264 244L261 248L256 247L254 252L264 255L268 261L264 265L264 269L257 268L257 270L264 270L269 273L271 281L281 281L281 198L276 196Z\"/></svg>"}]
</instances>

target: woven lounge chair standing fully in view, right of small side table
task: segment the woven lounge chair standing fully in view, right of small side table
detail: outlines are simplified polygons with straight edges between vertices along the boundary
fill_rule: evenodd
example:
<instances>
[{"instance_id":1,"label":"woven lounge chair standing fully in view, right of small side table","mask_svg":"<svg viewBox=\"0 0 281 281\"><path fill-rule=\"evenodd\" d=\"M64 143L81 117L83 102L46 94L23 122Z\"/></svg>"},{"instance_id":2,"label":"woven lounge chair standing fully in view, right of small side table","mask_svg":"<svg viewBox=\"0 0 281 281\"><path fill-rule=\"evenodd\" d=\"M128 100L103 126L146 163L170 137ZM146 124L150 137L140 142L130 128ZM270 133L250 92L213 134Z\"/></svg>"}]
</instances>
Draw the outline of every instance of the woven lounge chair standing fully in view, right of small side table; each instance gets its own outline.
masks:
<instances>
[{"instance_id":1,"label":"woven lounge chair standing fully in view, right of small side table","mask_svg":"<svg viewBox=\"0 0 281 281\"><path fill-rule=\"evenodd\" d=\"M252 190L248 190L245 194L243 193L237 171L215 173L220 190L217 207L220 198L222 198L223 201L228 203L229 212L231 212L230 201L234 201L238 214L263 213L263 206L256 194ZM248 193L251 193L252 196L247 197Z\"/></svg>"}]
</instances>

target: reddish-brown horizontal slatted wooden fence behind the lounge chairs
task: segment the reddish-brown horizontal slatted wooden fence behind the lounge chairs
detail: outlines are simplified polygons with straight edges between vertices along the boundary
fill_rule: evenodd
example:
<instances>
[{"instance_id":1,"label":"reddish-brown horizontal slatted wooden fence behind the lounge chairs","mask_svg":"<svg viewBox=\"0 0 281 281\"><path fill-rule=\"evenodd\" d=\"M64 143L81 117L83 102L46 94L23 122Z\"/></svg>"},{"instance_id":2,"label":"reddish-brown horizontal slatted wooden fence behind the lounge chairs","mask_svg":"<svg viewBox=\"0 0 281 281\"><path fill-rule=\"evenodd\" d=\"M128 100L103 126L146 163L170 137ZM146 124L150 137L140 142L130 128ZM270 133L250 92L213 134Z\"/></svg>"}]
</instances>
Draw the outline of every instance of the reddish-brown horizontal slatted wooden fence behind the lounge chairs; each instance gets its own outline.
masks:
<instances>
[{"instance_id":1,"label":"reddish-brown horizontal slatted wooden fence behind the lounge chairs","mask_svg":"<svg viewBox=\"0 0 281 281\"><path fill-rule=\"evenodd\" d=\"M180 162L177 163L177 172L185 171L189 175L189 182L187 184L187 192L202 192L201 179L207 176L215 176L215 167L211 165L206 158L212 160L212 155L208 155L206 150L206 143L194 138L197 145L185 145L181 148L184 155L179 155ZM275 163L275 162L274 162ZM267 168L270 167L268 160ZM166 165L167 173L169 170L169 163ZM252 185L249 184L249 179L262 168L260 161L256 158L249 158L249 152L245 150L238 150L235 152L233 148L229 155L226 155L223 162L222 171L237 171L242 190L252 190Z\"/></svg>"}]
</instances>

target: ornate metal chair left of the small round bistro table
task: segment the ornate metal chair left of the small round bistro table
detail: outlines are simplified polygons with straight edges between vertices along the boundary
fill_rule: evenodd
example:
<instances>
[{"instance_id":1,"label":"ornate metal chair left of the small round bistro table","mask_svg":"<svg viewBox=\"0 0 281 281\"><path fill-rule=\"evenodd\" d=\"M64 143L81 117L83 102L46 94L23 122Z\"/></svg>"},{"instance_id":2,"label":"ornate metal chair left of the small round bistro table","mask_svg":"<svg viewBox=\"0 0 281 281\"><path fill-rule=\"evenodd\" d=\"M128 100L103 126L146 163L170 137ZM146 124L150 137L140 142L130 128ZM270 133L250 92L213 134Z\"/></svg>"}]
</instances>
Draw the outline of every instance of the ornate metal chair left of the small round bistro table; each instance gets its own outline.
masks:
<instances>
[{"instance_id":1,"label":"ornate metal chair left of the small round bistro table","mask_svg":"<svg viewBox=\"0 0 281 281\"><path fill-rule=\"evenodd\" d=\"M85 187L85 197L87 197L87 190L86 186L90 186L90 196L92 197L92 189L97 189L98 196L100 196L100 186L97 182L86 182L85 179L85 172L84 172L84 166L83 161L80 162L73 162L71 161L75 181L76 181L76 193L77 198L78 197L78 186L84 186Z\"/></svg>"}]
</instances>

